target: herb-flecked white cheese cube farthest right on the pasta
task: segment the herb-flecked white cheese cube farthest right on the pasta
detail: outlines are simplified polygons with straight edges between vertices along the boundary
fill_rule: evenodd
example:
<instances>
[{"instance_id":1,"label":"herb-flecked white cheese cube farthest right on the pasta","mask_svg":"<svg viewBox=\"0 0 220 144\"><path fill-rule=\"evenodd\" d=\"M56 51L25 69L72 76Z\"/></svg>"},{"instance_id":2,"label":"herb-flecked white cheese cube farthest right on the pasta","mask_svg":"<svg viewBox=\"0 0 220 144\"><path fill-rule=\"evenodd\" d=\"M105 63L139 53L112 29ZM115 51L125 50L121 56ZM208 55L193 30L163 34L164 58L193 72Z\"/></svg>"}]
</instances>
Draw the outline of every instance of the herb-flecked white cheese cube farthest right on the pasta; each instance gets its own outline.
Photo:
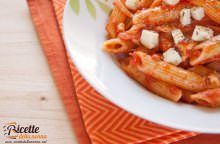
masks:
<instances>
[{"instance_id":1,"label":"herb-flecked white cheese cube farthest right on the pasta","mask_svg":"<svg viewBox=\"0 0 220 144\"><path fill-rule=\"evenodd\" d=\"M214 35L214 31L212 29L197 25L193 31L192 40L204 41L212 38L213 35Z\"/></svg>"}]
</instances>

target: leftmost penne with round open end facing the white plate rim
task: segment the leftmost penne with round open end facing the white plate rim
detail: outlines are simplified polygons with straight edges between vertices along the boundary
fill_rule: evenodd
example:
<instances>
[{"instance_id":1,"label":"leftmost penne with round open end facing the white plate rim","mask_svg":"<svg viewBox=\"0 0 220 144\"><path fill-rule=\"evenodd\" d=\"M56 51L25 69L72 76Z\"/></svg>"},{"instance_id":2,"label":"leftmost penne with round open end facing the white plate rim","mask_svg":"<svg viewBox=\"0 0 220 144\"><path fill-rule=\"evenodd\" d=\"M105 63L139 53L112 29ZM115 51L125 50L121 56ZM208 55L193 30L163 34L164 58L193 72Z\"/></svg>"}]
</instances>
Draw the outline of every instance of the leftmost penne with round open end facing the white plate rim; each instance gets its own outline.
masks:
<instances>
[{"instance_id":1,"label":"leftmost penne with round open end facing the white plate rim","mask_svg":"<svg viewBox=\"0 0 220 144\"><path fill-rule=\"evenodd\" d=\"M134 44L129 41L114 38L104 42L103 50L109 53L118 54L128 52L133 46Z\"/></svg>"}]
</instances>

